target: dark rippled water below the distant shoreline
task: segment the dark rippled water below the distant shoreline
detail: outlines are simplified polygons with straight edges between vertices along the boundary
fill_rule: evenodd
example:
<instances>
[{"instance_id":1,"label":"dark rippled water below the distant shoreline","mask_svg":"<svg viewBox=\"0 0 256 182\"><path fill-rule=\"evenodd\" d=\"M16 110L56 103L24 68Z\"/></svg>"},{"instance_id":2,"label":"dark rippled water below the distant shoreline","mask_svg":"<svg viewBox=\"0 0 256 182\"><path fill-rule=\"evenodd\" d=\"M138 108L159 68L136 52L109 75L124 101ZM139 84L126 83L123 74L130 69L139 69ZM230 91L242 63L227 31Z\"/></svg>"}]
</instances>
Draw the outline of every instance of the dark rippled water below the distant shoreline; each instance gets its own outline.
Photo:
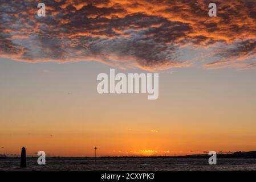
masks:
<instances>
[{"instance_id":1,"label":"dark rippled water below the distant shoreline","mask_svg":"<svg viewBox=\"0 0 256 182\"><path fill-rule=\"evenodd\" d=\"M209 165L208 159L184 158L48 158L45 166L37 159L27 159L27 168L19 167L20 159L0 159L0 170L256 170L256 159L217 159Z\"/></svg>"}]
</instances>

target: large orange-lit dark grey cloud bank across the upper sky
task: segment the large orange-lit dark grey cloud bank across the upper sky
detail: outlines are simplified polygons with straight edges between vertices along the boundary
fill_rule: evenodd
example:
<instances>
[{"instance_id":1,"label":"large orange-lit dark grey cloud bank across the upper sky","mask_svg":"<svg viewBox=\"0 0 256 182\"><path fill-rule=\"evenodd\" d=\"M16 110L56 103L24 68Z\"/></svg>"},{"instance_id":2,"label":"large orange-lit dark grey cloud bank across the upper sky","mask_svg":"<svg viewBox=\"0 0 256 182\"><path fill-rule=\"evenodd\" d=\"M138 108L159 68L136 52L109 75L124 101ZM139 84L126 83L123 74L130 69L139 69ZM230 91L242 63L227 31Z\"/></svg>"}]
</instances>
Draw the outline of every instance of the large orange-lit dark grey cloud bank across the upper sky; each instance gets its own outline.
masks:
<instances>
[{"instance_id":1,"label":"large orange-lit dark grey cloud bank across the upper sky","mask_svg":"<svg viewBox=\"0 0 256 182\"><path fill-rule=\"evenodd\" d=\"M41 1L40 1L41 2ZM38 61L100 61L148 71L194 65L181 50L204 50L205 68L256 66L256 4L215 1L0 0L0 57ZM200 52L200 51L199 51ZM195 55L195 54L192 54Z\"/></svg>"}]
</instances>

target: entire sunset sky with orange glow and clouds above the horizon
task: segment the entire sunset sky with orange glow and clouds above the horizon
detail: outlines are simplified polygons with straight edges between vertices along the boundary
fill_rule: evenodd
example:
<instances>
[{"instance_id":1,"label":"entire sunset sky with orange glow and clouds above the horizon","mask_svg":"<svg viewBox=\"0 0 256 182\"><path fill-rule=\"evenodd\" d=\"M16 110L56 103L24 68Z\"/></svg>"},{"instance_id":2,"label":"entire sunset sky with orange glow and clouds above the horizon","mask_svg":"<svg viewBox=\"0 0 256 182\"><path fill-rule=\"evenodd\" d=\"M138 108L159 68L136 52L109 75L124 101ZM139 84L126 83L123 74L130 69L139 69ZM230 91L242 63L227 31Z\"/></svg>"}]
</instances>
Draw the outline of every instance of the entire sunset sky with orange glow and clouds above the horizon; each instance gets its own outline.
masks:
<instances>
[{"instance_id":1,"label":"entire sunset sky with orange glow and clouds above the horizon","mask_svg":"<svg viewBox=\"0 0 256 182\"><path fill-rule=\"evenodd\" d=\"M256 150L254 1L0 1L0 154ZM96 77L159 73L159 98Z\"/></svg>"}]
</instances>

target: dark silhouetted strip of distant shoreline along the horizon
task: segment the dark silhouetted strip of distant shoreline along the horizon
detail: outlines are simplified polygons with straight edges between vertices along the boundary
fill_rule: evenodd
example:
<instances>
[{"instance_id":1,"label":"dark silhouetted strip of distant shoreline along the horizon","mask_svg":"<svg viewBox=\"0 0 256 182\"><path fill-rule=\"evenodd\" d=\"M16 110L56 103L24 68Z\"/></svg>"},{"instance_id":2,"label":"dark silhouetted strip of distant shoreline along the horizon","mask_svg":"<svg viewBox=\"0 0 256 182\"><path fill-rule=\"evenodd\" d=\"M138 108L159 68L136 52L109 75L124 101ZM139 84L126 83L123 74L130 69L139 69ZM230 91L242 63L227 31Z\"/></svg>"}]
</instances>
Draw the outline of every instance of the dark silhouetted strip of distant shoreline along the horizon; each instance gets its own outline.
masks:
<instances>
[{"instance_id":1,"label":"dark silhouetted strip of distant shoreline along the horizon","mask_svg":"<svg viewBox=\"0 0 256 182\"><path fill-rule=\"evenodd\" d=\"M256 158L256 151L249 151L249 152L234 152L231 154L220 154L217 153L217 157L218 158ZM1 157L0 159L17 159L20 157L9 157L9 156L5 156L5 157ZM27 158L38 158L38 156L27 156ZM87 158L87 159L95 159L95 157L63 157L63 156L49 156L46 158L51 158L51 159L83 159L83 158ZM209 158L208 154L193 154L193 155L182 155L182 156L100 156L97 158Z\"/></svg>"}]
</instances>

